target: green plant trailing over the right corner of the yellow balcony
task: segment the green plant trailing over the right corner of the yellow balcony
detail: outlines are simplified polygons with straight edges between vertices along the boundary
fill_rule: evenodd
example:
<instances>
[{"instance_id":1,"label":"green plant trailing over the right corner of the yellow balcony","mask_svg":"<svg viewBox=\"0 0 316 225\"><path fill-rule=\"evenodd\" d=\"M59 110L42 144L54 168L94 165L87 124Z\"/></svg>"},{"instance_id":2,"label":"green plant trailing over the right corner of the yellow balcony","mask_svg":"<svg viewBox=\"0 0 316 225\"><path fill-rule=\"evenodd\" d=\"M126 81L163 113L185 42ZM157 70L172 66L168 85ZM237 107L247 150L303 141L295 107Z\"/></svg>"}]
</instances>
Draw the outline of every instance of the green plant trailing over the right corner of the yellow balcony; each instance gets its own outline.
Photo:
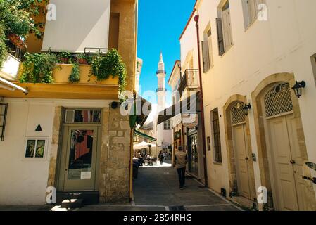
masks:
<instances>
[{"instance_id":1,"label":"green plant trailing over the right corner of the yellow balcony","mask_svg":"<svg viewBox=\"0 0 316 225\"><path fill-rule=\"evenodd\" d=\"M106 56L96 56L91 63L90 77L95 76L97 81L102 81L110 77L118 77L120 92L126 86L126 65L122 62L122 57L116 49L111 49Z\"/></svg>"}]
</instances>

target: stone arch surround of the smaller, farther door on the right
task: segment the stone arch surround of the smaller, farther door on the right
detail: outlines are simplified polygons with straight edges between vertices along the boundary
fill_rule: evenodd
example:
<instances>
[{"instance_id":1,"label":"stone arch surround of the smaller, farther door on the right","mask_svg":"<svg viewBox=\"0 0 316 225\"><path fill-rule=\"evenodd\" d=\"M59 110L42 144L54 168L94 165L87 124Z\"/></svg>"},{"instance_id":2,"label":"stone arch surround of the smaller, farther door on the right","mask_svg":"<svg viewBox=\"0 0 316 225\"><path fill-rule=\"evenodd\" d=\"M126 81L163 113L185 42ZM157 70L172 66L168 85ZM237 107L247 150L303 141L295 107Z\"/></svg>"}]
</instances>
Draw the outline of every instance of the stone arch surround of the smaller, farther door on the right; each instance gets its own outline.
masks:
<instances>
[{"instance_id":1,"label":"stone arch surround of the smaller, farther door on the right","mask_svg":"<svg viewBox=\"0 0 316 225\"><path fill-rule=\"evenodd\" d=\"M246 96L242 96L236 94L231 96L223 108L224 114L224 122L225 122L225 141L227 146L227 159L228 159L228 170L229 170L229 195L234 197L235 193L238 193L238 184L237 184L237 176L236 176L236 166L235 166L235 153L234 153L234 143L232 136L232 118L231 118L231 110L232 107L237 102L246 103ZM249 117L246 117L246 147L248 149L248 158L249 158L249 184L250 184L250 192L251 199L257 198L255 191L255 174L253 169L253 159L252 159L252 148L251 148L251 136L249 129Z\"/></svg>"}]
</instances>

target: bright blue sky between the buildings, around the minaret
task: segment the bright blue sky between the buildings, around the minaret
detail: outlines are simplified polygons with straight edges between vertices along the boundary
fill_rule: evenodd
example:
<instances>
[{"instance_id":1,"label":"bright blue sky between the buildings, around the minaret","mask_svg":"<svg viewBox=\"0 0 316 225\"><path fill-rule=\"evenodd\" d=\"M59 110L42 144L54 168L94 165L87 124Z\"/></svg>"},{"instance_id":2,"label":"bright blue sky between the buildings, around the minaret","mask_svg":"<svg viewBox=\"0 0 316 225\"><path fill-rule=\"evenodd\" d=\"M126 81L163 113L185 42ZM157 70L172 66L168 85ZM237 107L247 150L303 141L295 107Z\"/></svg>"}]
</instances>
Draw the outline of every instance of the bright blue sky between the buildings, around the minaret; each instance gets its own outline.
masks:
<instances>
[{"instance_id":1,"label":"bright blue sky between the buildings, around the minaret","mask_svg":"<svg viewBox=\"0 0 316 225\"><path fill-rule=\"evenodd\" d=\"M179 37L194 4L195 0L139 0L137 56L144 60L140 79L142 92L156 91L160 51L163 51L167 70L165 83L170 91L168 79L175 60L180 59ZM167 103L170 102L171 99L167 99Z\"/></svg>"}]
</instances>

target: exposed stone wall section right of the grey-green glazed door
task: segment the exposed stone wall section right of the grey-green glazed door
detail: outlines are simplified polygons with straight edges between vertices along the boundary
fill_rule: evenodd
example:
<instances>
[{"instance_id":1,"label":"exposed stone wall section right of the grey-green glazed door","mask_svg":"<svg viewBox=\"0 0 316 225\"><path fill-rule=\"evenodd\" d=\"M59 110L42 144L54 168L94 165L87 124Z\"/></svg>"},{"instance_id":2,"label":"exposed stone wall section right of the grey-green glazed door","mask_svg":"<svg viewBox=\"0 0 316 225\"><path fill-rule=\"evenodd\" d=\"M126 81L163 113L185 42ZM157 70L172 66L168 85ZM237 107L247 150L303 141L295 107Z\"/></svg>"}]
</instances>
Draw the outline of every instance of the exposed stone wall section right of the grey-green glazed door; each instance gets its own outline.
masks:
<instances>
[{"instance_id":1,"label":"exposed stone wall section right of the grey-green glazed door","mask_svg":"<svg viewBox=\"0 0 316 225\"><path fill-rule=\"evenodd\" d=\"M100 203L128 203L131 163L129 117L120 115L119 108L104 110L103 117Z\"/></svg>"}]
</instances>

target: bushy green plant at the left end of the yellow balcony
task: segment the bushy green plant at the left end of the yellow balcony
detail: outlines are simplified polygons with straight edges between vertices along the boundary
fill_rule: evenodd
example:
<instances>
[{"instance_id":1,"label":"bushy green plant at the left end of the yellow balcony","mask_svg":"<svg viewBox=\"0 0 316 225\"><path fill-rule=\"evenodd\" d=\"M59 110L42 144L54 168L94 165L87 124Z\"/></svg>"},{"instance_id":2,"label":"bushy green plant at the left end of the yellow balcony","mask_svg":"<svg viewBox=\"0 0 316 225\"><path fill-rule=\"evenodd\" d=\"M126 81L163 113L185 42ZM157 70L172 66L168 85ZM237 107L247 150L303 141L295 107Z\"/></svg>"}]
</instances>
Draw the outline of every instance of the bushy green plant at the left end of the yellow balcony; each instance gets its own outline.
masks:
<instances>
[{"instance_id":1,"label":"bushy green plant at the left end of the yellow balcony","mask_svg":"<svg viewBox=\"0 0 316 225\"><path fill-rule=\"evenodd\" d=\"M53 83L56 56L50 53L27 53L21 71L21 83Z\"/></svg>"}]
</instances>

